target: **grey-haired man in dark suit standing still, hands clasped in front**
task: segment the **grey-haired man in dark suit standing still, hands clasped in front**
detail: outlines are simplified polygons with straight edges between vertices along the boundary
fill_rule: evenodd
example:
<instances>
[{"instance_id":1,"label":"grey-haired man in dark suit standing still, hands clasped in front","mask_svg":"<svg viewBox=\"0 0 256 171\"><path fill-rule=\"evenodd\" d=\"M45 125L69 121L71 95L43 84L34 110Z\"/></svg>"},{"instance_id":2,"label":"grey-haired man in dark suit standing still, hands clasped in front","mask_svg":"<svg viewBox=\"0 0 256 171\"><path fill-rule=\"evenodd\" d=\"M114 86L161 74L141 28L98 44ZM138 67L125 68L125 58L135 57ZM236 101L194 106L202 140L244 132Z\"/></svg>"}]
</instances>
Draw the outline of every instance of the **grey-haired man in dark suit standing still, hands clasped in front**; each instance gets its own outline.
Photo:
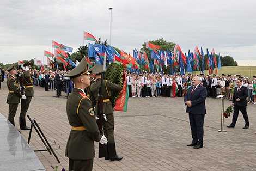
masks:
<instances>
[{"instance_id":1,"label":"grey-haired man in dark suit standing still, hands clasped in front","mask_svg":"<svg viewBox=\"0 0 256 171\"><path fill-rule=\"evenodd\" d=\"M194 77L192 79L193 86L187 90L187 94L184 97L185 105L187 105L186 112L189 113L191 135L193 138L192 143L187 146L194 146L194 149L203 148L207 90L200 83L200 77Z\"/></svg>"}]
</instances>

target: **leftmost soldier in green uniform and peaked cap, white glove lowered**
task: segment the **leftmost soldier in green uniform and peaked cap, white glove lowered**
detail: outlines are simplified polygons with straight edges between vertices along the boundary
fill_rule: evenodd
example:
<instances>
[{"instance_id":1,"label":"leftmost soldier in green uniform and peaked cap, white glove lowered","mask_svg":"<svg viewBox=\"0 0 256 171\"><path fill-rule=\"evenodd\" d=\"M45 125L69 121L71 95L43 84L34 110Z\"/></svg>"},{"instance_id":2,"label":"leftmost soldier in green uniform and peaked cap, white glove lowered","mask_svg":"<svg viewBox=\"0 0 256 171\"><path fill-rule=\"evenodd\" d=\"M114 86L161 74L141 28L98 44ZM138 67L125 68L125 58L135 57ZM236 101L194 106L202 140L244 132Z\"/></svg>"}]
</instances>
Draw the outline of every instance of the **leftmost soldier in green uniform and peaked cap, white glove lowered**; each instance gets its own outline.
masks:
<instances>
[{"instance_id":1,"label":"leftmost soldier in green uniform and peaked cap, white glove lowered","mask_svg":"<svg viewBox=\"0 0 256 171\"><path fill-rule=\"evenodd\" d=\"M15 126L14 117L16 115L18 104L20 103L20 98L23 100L26 100L27 97L21 94L19 83L15 80L17 69L15 68L14 64L11 65L7 69L7 71L9 72L9 76L6 82L9 90L9 93L7 96L7 103L9 104L8 120L10 121L11 124Z\"/></svg>"}]
</instances>

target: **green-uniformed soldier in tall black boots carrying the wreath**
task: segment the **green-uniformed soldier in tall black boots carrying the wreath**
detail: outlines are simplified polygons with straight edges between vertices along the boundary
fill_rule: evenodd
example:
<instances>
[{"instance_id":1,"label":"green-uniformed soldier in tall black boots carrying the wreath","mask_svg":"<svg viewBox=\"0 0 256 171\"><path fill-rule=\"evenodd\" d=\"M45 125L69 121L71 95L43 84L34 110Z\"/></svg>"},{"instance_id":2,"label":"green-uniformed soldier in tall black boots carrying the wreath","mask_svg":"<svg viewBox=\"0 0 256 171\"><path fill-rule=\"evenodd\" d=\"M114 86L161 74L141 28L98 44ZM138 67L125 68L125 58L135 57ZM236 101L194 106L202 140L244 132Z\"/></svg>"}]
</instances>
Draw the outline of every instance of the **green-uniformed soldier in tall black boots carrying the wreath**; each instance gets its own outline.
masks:
<instances>
[{"instance_id":1,"label":"green-uniformed soldier in tall black boots carrying the wreath","mask_svg":"<svg viewBox=\"0 0 256 171\"><path fill-rule=\"evenodd\" d=\"M96 81L90 86L90 100L93 105L96 106L98 96L99 96L99 88L101 82L101 72L103 71L103 65L94 66L92 72L96 74ZM113 91L121 91L123 88L118 86L117 84L111 83L108 80L103 80L103 113L106 115L107 120L105 121L105 135L107 137L107 152L108 156L105 157L105 160L122 160L122 156L118 156L115 150L115 141L114 141L114 114L112 103L110 101L111 92Z\"/></svg>"}]
</instances>

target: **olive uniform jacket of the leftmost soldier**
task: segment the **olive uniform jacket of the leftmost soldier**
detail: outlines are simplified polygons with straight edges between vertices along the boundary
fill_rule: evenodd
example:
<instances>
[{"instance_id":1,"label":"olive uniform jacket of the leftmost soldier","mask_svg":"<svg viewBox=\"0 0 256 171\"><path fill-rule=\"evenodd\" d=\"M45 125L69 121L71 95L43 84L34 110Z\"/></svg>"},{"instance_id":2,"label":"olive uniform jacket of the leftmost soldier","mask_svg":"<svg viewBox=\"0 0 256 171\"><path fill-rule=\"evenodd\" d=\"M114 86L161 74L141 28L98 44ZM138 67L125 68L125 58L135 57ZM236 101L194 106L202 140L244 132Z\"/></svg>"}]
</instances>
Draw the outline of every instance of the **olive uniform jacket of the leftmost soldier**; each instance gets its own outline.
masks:
<instances>
[{"instance_id":1,"label":"olive uniform jacket of the leftmost soldier","mask_svg":"<svg viewBox=\"0 0 256 171\"><path fill-rule=\"evenodd\" d=\"M11 75L9 75L9 77L7 78L6 83L9 90L6 103L8 104L20 103L20 98L22 97L22 94L19 89L19 83Z\"/></svg>"}]
</instances>

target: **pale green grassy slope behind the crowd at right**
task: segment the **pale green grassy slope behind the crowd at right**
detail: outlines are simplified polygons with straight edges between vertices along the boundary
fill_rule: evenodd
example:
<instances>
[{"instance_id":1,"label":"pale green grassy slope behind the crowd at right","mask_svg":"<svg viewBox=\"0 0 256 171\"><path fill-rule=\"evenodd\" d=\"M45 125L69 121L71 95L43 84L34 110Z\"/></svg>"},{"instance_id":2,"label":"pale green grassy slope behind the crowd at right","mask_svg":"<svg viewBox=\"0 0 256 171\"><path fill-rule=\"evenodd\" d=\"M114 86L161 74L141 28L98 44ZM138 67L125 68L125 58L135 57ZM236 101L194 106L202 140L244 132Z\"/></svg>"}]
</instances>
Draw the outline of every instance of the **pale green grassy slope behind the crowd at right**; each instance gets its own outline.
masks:
<instances>
[{"instance_id":1,"label":"pale green grassy slope behind the crowd at right","mask_svg":"<svg viewBox=\"0 0 256 171\"><path fill-rule=\"evenodd\" d=\"M256 76L256 66L222 66L221 70L217 70L217 75L225 74L225 75L241 75L242 77L251 77L255 75ZM194 71L194 74L198 75L202 73L201 71ZM209 74L208 70L204 71L205 75ZM215 70L214 70L215 74Z\"/></svg>"}]
</instances>

